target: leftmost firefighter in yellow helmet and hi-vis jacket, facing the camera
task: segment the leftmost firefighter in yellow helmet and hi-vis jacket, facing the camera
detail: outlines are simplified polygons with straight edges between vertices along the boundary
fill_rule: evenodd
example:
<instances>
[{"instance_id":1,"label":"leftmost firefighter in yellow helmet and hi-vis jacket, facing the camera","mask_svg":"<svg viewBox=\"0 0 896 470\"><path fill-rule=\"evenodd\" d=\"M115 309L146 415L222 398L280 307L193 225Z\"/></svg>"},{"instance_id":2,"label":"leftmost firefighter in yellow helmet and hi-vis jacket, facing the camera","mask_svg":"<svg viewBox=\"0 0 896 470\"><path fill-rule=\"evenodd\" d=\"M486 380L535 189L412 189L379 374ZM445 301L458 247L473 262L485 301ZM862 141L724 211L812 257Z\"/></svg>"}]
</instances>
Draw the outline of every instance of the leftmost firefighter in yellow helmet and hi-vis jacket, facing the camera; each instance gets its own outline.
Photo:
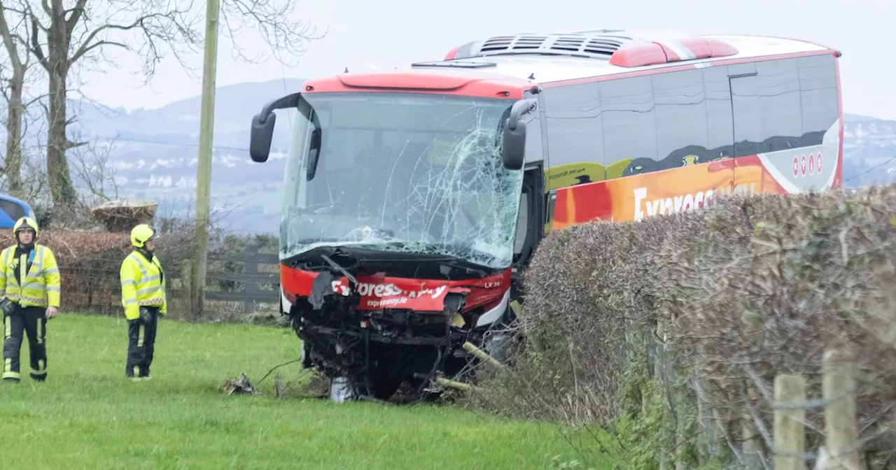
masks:
<instances>
[{"instance_id":1,"label":"leftmost firefighter in yellow helmet and hi-vis jacket, facing the camera","mask_svg":"<svg viewBox=\"0 0 896 470\"><path fill-rule=\"evenodd\" d=\"M15 222L16 244L0 252L0 310L3 311L3 380L18 382L22 332L28 335L33 380L47 379L47 319L59 313L59 267L47 246L37 244L38 223Z\"/></svg>"}]
</instances>

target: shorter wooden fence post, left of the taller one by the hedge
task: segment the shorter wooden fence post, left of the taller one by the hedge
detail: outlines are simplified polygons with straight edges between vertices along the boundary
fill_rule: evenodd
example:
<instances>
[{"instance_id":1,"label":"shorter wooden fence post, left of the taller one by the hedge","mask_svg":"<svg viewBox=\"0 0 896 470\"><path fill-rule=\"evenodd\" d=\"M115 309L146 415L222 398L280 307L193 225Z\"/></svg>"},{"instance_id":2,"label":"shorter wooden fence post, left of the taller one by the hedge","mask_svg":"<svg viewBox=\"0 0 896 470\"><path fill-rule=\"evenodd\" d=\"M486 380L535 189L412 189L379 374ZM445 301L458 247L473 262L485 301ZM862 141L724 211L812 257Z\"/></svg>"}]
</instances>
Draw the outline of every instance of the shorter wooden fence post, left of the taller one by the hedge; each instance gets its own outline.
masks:
<instances>
[{"instance_id":1,"label":"shorter wooden fence post, left of the taller one by the hedge","mask_svg":"<svg viewBox=\"0 0 896 470\"><path fill-rule=\"evenodd\" d=\"M775 470L803 470L806 462L806 380L799 374L775 377Z\"/></svg>"}]
</instances>

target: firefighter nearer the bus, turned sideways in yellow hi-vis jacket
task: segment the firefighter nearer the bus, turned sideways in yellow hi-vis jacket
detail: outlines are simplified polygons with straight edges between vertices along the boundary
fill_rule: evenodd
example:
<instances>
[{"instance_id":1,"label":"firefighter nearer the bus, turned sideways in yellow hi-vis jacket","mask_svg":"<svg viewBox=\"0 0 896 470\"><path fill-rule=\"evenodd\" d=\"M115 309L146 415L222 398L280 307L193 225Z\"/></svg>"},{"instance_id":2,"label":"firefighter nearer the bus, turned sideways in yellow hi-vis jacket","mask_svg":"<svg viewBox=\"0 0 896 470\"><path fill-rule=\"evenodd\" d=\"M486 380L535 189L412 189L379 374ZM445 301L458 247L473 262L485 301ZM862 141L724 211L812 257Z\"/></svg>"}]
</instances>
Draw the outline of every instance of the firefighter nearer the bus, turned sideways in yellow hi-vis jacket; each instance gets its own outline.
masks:
<instances>
[{"instance_id":1,"label":"firefighter nearer the bus, turned sideways in yellow hi-vis jacket","mask_svg":"<svg viewBox=\"0 0 896 470\"><path fill-rule=\"evenodd\" d=\"M146 224L131 230L134 251L121 263L121 302L127 319L127 363L130 380L149 380L159 315L168 312L165 276L153 255L156 231Z\"/></svg>"}]
</instances>

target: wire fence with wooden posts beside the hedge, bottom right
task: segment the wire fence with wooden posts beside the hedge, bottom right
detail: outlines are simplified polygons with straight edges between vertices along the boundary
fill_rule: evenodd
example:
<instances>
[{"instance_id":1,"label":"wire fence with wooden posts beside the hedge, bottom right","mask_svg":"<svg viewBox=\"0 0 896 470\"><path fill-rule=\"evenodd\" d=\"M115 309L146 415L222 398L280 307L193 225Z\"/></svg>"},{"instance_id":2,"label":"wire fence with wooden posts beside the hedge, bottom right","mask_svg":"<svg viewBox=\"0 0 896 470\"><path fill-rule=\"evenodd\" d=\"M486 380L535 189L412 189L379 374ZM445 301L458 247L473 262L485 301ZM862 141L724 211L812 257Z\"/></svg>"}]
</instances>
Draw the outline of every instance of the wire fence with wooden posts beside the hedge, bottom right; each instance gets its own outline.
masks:
<instances>
[{"instance_id":1,"label":"wire fence with wooden posts beside the hedge, bottom right","mask_svg":"<svg viewBox=\"0 0 896 470\"><path fill-rule=\"evenodd\" d=\"M665 391L675 389L675 383L681 381L696 385L696 406L675 392L669 395L668 413L675 420L696 419L698 423L696 428L676 426L672 441L677 446L686 446L697 432L710 450L707 455L719 456L725 453L722 448L728 447L737 467L745 470L896 466L896 449L874 445L875 440L892 433L889 423L873 426L857 413L857 401L863 399L858 379L861 368L849 346L826 348L820 374L779 373L771 387L761 377L746 381L743 399L731 409L714 406L705 396L701 385L713 380L711 375L678 376L662 356L658 355L655 376L664 383ZM867 428L872 427L876 429L869 432ZM675 455L672 450L660 457L660 466L678 467Z\"/></svg>"}]
</instances>

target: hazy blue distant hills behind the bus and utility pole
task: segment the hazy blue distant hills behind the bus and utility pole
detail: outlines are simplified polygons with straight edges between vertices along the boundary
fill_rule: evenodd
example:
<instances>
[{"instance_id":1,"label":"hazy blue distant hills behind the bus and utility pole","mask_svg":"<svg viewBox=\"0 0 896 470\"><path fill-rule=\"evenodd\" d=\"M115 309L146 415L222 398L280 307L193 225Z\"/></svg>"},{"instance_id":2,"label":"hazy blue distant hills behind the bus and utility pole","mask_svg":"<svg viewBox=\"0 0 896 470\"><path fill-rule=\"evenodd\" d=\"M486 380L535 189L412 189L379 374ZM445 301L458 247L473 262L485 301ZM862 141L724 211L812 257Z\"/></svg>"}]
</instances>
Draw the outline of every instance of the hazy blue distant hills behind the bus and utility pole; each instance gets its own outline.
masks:
<instances>
[{"instance_id":1,"label":"hazy blue distant hills behind the bus and utility pole","mask_svg":"<svg viewBox=\"0 0 896 470\"><path fill-rule=\"evenodd\" d=\"M226 207L226 225L251 232L276 232L289 119L280 111L271 159L258 165L248 156L249 122L264 103L299 90L304 80L240 83L216 91L212 198ZM200 97L130 113L96 103L72 101L72 132L100 139L116 137L113 166L123 196L151 198L164 211L193 209ZM5 115L2 103L0 113ZM845 115L844 182L848 186L896 180L896 121ZM43 132L40 130L39 132ZM33 132L32 132L33 133ZM3 136L0 136L3 137ZM43 135L30 135L30 140Z\"/></svg>"}]
</instances>

